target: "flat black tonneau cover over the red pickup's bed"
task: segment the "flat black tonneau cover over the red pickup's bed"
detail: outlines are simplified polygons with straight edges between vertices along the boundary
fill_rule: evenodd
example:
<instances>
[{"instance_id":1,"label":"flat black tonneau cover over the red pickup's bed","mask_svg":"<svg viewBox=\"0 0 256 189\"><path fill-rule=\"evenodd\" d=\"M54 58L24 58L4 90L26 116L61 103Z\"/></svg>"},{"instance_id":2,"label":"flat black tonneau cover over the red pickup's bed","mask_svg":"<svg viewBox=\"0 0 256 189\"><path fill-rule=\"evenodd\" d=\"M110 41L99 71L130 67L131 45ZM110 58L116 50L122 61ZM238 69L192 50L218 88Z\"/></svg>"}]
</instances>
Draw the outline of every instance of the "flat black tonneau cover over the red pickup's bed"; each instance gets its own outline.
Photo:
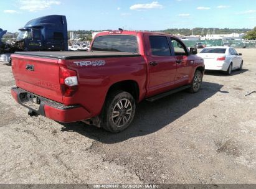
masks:
<instances>
[{"instance_id":1,"label":"flat black tonneau cover over the red pickup's bed","mask_svg":"<svg viewBox=\"0 0 256 189\"><path fill-rule=\"evenodd\" d=\"M37 52L15 52L18 55L41 58L58 58L64 60L80 58L111 58L111 57L139 57L138 53L130 52L75 52L75 51L37 51Z\"/></svg>"}]
</instances>

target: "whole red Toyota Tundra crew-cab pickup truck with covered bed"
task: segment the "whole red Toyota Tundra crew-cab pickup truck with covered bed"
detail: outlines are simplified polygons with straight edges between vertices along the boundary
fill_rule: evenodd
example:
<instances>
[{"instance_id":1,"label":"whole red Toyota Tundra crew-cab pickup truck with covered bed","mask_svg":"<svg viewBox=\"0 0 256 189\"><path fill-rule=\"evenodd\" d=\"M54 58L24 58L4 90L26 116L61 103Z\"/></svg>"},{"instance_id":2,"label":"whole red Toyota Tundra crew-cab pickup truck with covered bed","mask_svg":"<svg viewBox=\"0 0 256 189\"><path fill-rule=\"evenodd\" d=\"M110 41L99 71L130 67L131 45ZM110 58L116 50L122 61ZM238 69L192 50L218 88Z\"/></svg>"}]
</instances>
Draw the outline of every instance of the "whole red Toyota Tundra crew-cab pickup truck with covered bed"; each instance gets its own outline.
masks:
<instances>
[{"instance_id":1,"label":"whole red Toyota Tundra crew-cab pickup truck with covered bed","mask_svg":"<svg viewBox=\"0 0 256 189\"><path fill-rule=\"evenodd\" d=\"M102 32L90 52L16 52L14 99L59 122L84 121L110 132L131 124L136 104L188 89L196 93L204 61L177 37L155 32Z\"/></svg>"}]
</instances>

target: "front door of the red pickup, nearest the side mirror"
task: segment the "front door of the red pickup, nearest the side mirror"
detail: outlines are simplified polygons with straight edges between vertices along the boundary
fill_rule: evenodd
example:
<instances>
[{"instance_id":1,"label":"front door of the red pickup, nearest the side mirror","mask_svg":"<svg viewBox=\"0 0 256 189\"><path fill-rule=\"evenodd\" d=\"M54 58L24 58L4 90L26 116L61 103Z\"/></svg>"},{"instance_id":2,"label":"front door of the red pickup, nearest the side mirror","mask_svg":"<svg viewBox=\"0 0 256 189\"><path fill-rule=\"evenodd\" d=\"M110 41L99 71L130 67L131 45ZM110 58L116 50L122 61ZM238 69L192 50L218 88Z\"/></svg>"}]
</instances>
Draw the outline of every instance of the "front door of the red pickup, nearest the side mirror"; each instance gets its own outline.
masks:
<instances>
[{"instance_id":1,"label":"front door of the red pickup, nearest the side mirror","mask_svg":"<svg viewBox=\"0 0 256 189\"><path fill-rule=\"evenodd\" d=\"M187 51L186 45L183 44L179 39L171 37L171 48L177 65L177 71L175 76L175 83L186 84L191 74L191 62L188 58L189 52Z\"/></svg>"}]
</instances>

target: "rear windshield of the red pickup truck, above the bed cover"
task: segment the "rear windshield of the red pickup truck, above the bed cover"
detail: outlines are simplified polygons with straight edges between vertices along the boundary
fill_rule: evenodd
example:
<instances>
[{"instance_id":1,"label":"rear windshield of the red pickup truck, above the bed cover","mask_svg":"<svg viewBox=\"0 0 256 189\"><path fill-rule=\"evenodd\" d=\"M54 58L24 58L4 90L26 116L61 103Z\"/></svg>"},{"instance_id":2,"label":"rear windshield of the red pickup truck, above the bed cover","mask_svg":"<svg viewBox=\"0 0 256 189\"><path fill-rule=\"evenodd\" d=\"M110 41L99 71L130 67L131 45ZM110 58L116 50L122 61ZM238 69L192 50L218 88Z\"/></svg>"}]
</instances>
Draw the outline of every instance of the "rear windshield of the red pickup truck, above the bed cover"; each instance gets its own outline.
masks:
<instances>
[{"instance_id":1,"label":"rear windshield of the red pickup truck, above the bed cover","mask_svg":"<svg viewBox=\"0 0 256 189\"><path fill-rule=\"evenodd\" d=\"M96 37L92 50L111 52L138 52L137 39L133 35L104 35Z\"/></svg>"}]
</instances>

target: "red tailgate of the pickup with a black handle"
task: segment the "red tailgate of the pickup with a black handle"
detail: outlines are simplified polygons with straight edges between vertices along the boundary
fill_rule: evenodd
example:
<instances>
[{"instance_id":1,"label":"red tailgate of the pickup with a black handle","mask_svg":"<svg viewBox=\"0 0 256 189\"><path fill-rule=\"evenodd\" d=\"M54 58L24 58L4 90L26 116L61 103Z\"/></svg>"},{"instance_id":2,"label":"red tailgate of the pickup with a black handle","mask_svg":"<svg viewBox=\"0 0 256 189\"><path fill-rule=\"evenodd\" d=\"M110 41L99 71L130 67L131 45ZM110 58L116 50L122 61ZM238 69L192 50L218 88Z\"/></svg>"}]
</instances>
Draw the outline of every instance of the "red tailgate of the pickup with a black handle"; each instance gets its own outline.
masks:
<instances>
[{"instance_id":1,"label":"red tailgate of the pickup with a black handle","mask_svg":"<svg viewBox=\"0 0 256 189\"><path fill-rule=\"evenodd\" d=\"M12 55L12 72L17 87L63 103L57 58L28 57L14 54Z\"/></svg>"}]
</instances>

